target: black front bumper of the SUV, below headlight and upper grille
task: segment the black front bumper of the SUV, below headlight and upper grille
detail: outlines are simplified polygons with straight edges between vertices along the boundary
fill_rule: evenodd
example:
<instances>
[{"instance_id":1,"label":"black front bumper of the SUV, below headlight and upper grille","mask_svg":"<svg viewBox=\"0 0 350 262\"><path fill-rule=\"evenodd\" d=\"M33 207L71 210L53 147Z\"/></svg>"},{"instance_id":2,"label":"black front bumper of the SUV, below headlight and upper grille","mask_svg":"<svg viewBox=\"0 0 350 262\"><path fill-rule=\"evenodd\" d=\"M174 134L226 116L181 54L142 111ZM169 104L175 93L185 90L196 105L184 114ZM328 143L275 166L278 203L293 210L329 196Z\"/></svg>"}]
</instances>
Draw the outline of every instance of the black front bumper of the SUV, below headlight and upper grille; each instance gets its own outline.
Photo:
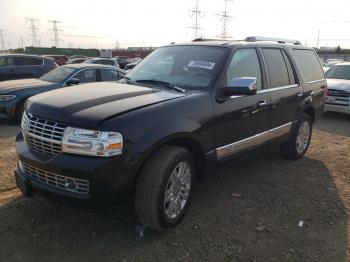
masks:
<instances>
[{"instance_id":1,"label":"black front bumper of the SUV, below headlight and upper grille","mask_svg":"<svg viewBox=\"0 0 350 262\"><path fill-rule=\"evenodd\" d=\"M15 171L18 185L25 184L24 189L32 193L53 195L65 201L87 205L90 207L106 207L119 204L127 199L133 189L133 181L139 168L137 156L113 158L97 158L70 154L59 154L48 157L31 151L20 133L16 138L16 151L19 161L34 170L45 174L55 174L59 178L69 178L88 181L88 191L84 193L72 192L55 186L53 180L45 176L33 177L26 174L17 165ZM57 182L56 182L57 183ZM23 191L23 186L22 186ZM25 192L24 192L25 193Z\"/></svg>"}]
</instances>

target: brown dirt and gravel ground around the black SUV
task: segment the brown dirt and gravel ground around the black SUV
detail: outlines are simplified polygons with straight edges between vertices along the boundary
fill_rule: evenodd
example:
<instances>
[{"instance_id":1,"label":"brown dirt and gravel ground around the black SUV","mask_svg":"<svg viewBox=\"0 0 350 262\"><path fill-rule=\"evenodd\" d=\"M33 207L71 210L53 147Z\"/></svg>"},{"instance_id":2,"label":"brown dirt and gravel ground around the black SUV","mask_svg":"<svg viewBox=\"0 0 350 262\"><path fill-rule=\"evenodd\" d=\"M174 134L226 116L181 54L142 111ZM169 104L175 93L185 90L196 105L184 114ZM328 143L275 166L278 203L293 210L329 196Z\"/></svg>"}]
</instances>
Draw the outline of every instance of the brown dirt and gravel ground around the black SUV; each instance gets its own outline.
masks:
<instances>
[{"instance_id":1,"label":"brown dirt and gravel ground around the black SUV","mask_svg":"<svg viewBox=\"0 0 350 262\"><path fill-rule=\"evenodd\" d=\"M96 212L8 190L17 130L0 125L0 261L350 261L348 116L326 115L302 160L268 152L198 181L183 222L142 239L127 207Z\"/></svg>"}]
</instances>

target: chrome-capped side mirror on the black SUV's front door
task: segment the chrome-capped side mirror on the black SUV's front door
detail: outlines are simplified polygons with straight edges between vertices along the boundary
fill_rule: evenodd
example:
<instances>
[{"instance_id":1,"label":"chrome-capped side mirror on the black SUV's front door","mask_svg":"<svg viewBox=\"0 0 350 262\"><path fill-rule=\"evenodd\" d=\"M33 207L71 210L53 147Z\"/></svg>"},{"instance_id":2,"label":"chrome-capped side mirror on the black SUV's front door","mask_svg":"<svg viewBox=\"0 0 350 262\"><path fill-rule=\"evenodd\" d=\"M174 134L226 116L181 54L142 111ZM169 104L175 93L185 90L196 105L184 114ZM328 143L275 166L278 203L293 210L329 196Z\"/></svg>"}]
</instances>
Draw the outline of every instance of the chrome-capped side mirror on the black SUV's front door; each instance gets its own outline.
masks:
<instances>
[{"instance_id":1,"label":"chrome-capped side mirror on the black SUV's front door","mask_svg":"<svg viewBox=\"0 0 350 262\"><path fill-rule=\"evenodd\" d=\"M226 96L255 95L257 91L257 80L255 77L233 78L224 87L224 94Z\"/></svg>"}]
</instances>

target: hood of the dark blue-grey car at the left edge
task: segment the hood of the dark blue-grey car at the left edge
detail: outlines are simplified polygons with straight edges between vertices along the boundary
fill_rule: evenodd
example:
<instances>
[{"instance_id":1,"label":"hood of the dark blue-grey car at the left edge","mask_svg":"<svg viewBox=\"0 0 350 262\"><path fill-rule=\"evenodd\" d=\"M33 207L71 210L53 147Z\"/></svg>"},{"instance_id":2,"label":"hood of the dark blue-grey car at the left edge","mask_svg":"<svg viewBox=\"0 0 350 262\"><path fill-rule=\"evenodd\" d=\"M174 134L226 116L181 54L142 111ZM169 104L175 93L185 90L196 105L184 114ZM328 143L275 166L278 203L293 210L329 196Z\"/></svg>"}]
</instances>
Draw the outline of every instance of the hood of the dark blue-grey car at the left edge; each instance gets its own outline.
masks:
<instances>
[{"instance_id":1,"label":"hood of the dark blue-grey car at the left edge","mask_svg":"<svg viewBox=\"0 0 350 262\"><path fill-rule=\"evenodd\" d=\"M0 94L9 94L25 89L48 87L57 85L55 83L42 81L35 78L9 80L0 82Z\"/></svg>"}]
</instances>

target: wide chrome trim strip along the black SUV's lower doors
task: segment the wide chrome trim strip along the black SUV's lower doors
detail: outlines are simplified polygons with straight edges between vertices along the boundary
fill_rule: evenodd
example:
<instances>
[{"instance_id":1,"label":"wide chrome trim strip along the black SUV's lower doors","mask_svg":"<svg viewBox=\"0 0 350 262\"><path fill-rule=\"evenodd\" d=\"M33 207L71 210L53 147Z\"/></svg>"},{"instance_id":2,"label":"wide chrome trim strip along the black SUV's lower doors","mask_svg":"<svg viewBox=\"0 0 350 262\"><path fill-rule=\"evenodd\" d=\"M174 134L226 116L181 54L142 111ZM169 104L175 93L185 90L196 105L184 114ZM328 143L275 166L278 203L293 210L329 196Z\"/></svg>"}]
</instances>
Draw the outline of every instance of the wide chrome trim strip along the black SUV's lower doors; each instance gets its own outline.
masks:
<instances>
[{"instance_id":1,"label":"wide chrome trim strip along the black SUV's lower doors","mask_svg":"<svg viewBox=\"0 0 350 262\"><path fill-rule=\"evenodd\" d=\"M274 138L287 134L290 131L291 126L292 126L292 122L289 122L287 124L284 124L279 127L275 127L273 129L262 132L260 134L256 134L254 136L245 138L243 140L234 142L232 144L219 147L215 150L216 157L218 160L220 160L232 154L241 152L245 149L261 145L269 140L272 140Z\"/></svg>"}]
</instances>

